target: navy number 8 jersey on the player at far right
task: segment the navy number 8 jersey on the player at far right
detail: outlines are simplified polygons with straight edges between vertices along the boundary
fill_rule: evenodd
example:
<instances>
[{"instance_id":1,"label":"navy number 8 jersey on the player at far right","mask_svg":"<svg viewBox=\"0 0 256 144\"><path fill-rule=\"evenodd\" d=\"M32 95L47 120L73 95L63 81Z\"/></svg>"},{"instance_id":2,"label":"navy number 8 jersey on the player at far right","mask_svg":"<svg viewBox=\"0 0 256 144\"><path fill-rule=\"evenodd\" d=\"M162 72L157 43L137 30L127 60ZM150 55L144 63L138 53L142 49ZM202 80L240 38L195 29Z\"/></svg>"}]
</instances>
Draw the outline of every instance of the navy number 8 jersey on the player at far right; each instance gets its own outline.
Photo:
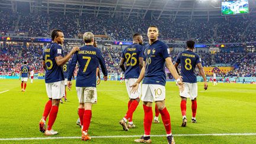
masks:
<instances>
[{"instance_id":1,"label":"navy number 8 jersey on the player at far right","mask_svg":"<svg viewBox=\"0 0 256 144\"><path fill-rule=\"evenodd\" d=\"M201 63L200 56L191 50L185 50L178 54L176 62L181 63L181 76L183 76L183 82L196 83L196 65Z\"/></svg>"}]
</instances>

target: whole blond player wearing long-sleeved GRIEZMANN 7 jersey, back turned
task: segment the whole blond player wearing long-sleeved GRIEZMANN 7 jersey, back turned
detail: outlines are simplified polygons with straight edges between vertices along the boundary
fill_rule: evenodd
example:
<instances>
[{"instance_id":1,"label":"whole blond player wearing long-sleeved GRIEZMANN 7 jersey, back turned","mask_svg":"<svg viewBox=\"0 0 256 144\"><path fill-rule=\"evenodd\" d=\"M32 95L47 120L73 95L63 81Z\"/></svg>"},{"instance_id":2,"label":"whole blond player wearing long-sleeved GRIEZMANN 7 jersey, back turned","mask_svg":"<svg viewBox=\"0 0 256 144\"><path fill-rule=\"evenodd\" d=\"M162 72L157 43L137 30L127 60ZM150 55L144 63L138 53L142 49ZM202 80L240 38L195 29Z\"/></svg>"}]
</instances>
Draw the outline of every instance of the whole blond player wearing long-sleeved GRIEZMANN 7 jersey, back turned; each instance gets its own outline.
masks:
<instances>
[{"instance_id":1,"label":"whole blond player wearing long-sleeved GRIEZMANN 7 jersey, back turned","mask_svg":"<svg viewBox=\"0 0 256 144\"><path fill-rule=\"evenodd\" d=\"M94 34L86 32L84 33L83 39L85 46L80 47L80 50L72 57L68 76L68 88L71 89L72 87L71 76L78 62L79 70L76 77L76 92L79 100L78 114L82 126L82 140L89 140L91 139L88 135L88 129L92 116L92 104L97 103L97 63L100 63L105 81L107 81L107 69L103 54L99 49L93 46Z\"/></svg>"}]
</instances>

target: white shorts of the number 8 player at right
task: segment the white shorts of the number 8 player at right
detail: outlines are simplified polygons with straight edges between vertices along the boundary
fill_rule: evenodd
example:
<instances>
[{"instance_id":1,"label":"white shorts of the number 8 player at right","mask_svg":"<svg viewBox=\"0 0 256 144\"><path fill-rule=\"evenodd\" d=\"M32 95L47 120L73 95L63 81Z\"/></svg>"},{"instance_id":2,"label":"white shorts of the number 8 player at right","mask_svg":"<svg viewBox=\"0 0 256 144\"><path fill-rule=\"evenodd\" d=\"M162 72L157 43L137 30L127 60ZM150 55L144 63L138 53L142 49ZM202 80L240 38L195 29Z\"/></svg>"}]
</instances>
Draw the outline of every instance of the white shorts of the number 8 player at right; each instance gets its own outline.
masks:
<instances>
[{"instance_id":1,"label":"white shorts of the number 8 player at right","mask_svg":"<svg viewBox=\"0 0 256 144\"><path fill-rule=\"evenodd\" d=\"M184 82L184 91L180 92L180 96L194 100L197 97L197 83Z\"/></svg>"}]
</instances>

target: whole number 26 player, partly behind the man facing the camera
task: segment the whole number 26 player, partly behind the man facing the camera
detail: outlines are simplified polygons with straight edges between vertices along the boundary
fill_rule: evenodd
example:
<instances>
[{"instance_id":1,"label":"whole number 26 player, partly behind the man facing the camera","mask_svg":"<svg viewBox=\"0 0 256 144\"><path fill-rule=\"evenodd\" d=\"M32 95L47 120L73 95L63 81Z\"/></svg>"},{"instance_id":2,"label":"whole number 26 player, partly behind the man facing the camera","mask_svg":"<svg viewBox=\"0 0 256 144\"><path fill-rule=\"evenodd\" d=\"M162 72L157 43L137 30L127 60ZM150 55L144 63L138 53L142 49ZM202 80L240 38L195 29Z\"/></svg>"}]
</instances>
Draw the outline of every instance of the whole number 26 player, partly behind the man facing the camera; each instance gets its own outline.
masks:
<instances>
[{"instance_id":1,"label":"whole number 26 player, partly behind the man facing the camera","mask_svg":"<svg viewBox=\"0 0 256 144\"><path fill-rule=\"evenodd\" d=\"M126 131L129 130L129 128L135 127L135 124L133 124L132 121L132 116L140 101L140 84L139 89L135 94L131 93L132 88L130 86L132 86L132 84L134 84L137 81L137 78L139 78L140 69L142 69L143 67L142 44L142 36L138 33L134 34L133 44L130 44L123 50L120 60L120 68L122 69L125 75L125 83L129 95L129 101L128 111L119 123L121 124L121 126L123 126L123 130ZM124 67L124 63L126 63L126 67ZM129 120L128 125L127 120Z\"/></svg>"}]
</instances>

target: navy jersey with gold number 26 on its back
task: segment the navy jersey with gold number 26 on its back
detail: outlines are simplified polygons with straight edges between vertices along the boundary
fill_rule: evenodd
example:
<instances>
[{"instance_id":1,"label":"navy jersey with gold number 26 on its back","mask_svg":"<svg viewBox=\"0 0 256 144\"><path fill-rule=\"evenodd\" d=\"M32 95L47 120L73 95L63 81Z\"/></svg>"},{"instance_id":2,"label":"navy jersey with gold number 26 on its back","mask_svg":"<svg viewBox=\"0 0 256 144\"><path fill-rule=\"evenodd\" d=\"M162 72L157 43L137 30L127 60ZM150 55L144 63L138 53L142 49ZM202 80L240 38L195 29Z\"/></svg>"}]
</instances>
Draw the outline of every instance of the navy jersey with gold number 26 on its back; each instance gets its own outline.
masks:
<instances>
[{"instance_id":1,"label":"navy jersey with gold number 26 on its back","mask_svg":"<svg viewBox=\"0 0 256 144\"><path fill-rule=\"evenodd\" d=\"M143 57L143 47L140 44L131 44L127 46L122 53L122 56L126 60L126 71L124 76L126 79L139 78L139 57Z\"/></svg>"}]
</instances>

